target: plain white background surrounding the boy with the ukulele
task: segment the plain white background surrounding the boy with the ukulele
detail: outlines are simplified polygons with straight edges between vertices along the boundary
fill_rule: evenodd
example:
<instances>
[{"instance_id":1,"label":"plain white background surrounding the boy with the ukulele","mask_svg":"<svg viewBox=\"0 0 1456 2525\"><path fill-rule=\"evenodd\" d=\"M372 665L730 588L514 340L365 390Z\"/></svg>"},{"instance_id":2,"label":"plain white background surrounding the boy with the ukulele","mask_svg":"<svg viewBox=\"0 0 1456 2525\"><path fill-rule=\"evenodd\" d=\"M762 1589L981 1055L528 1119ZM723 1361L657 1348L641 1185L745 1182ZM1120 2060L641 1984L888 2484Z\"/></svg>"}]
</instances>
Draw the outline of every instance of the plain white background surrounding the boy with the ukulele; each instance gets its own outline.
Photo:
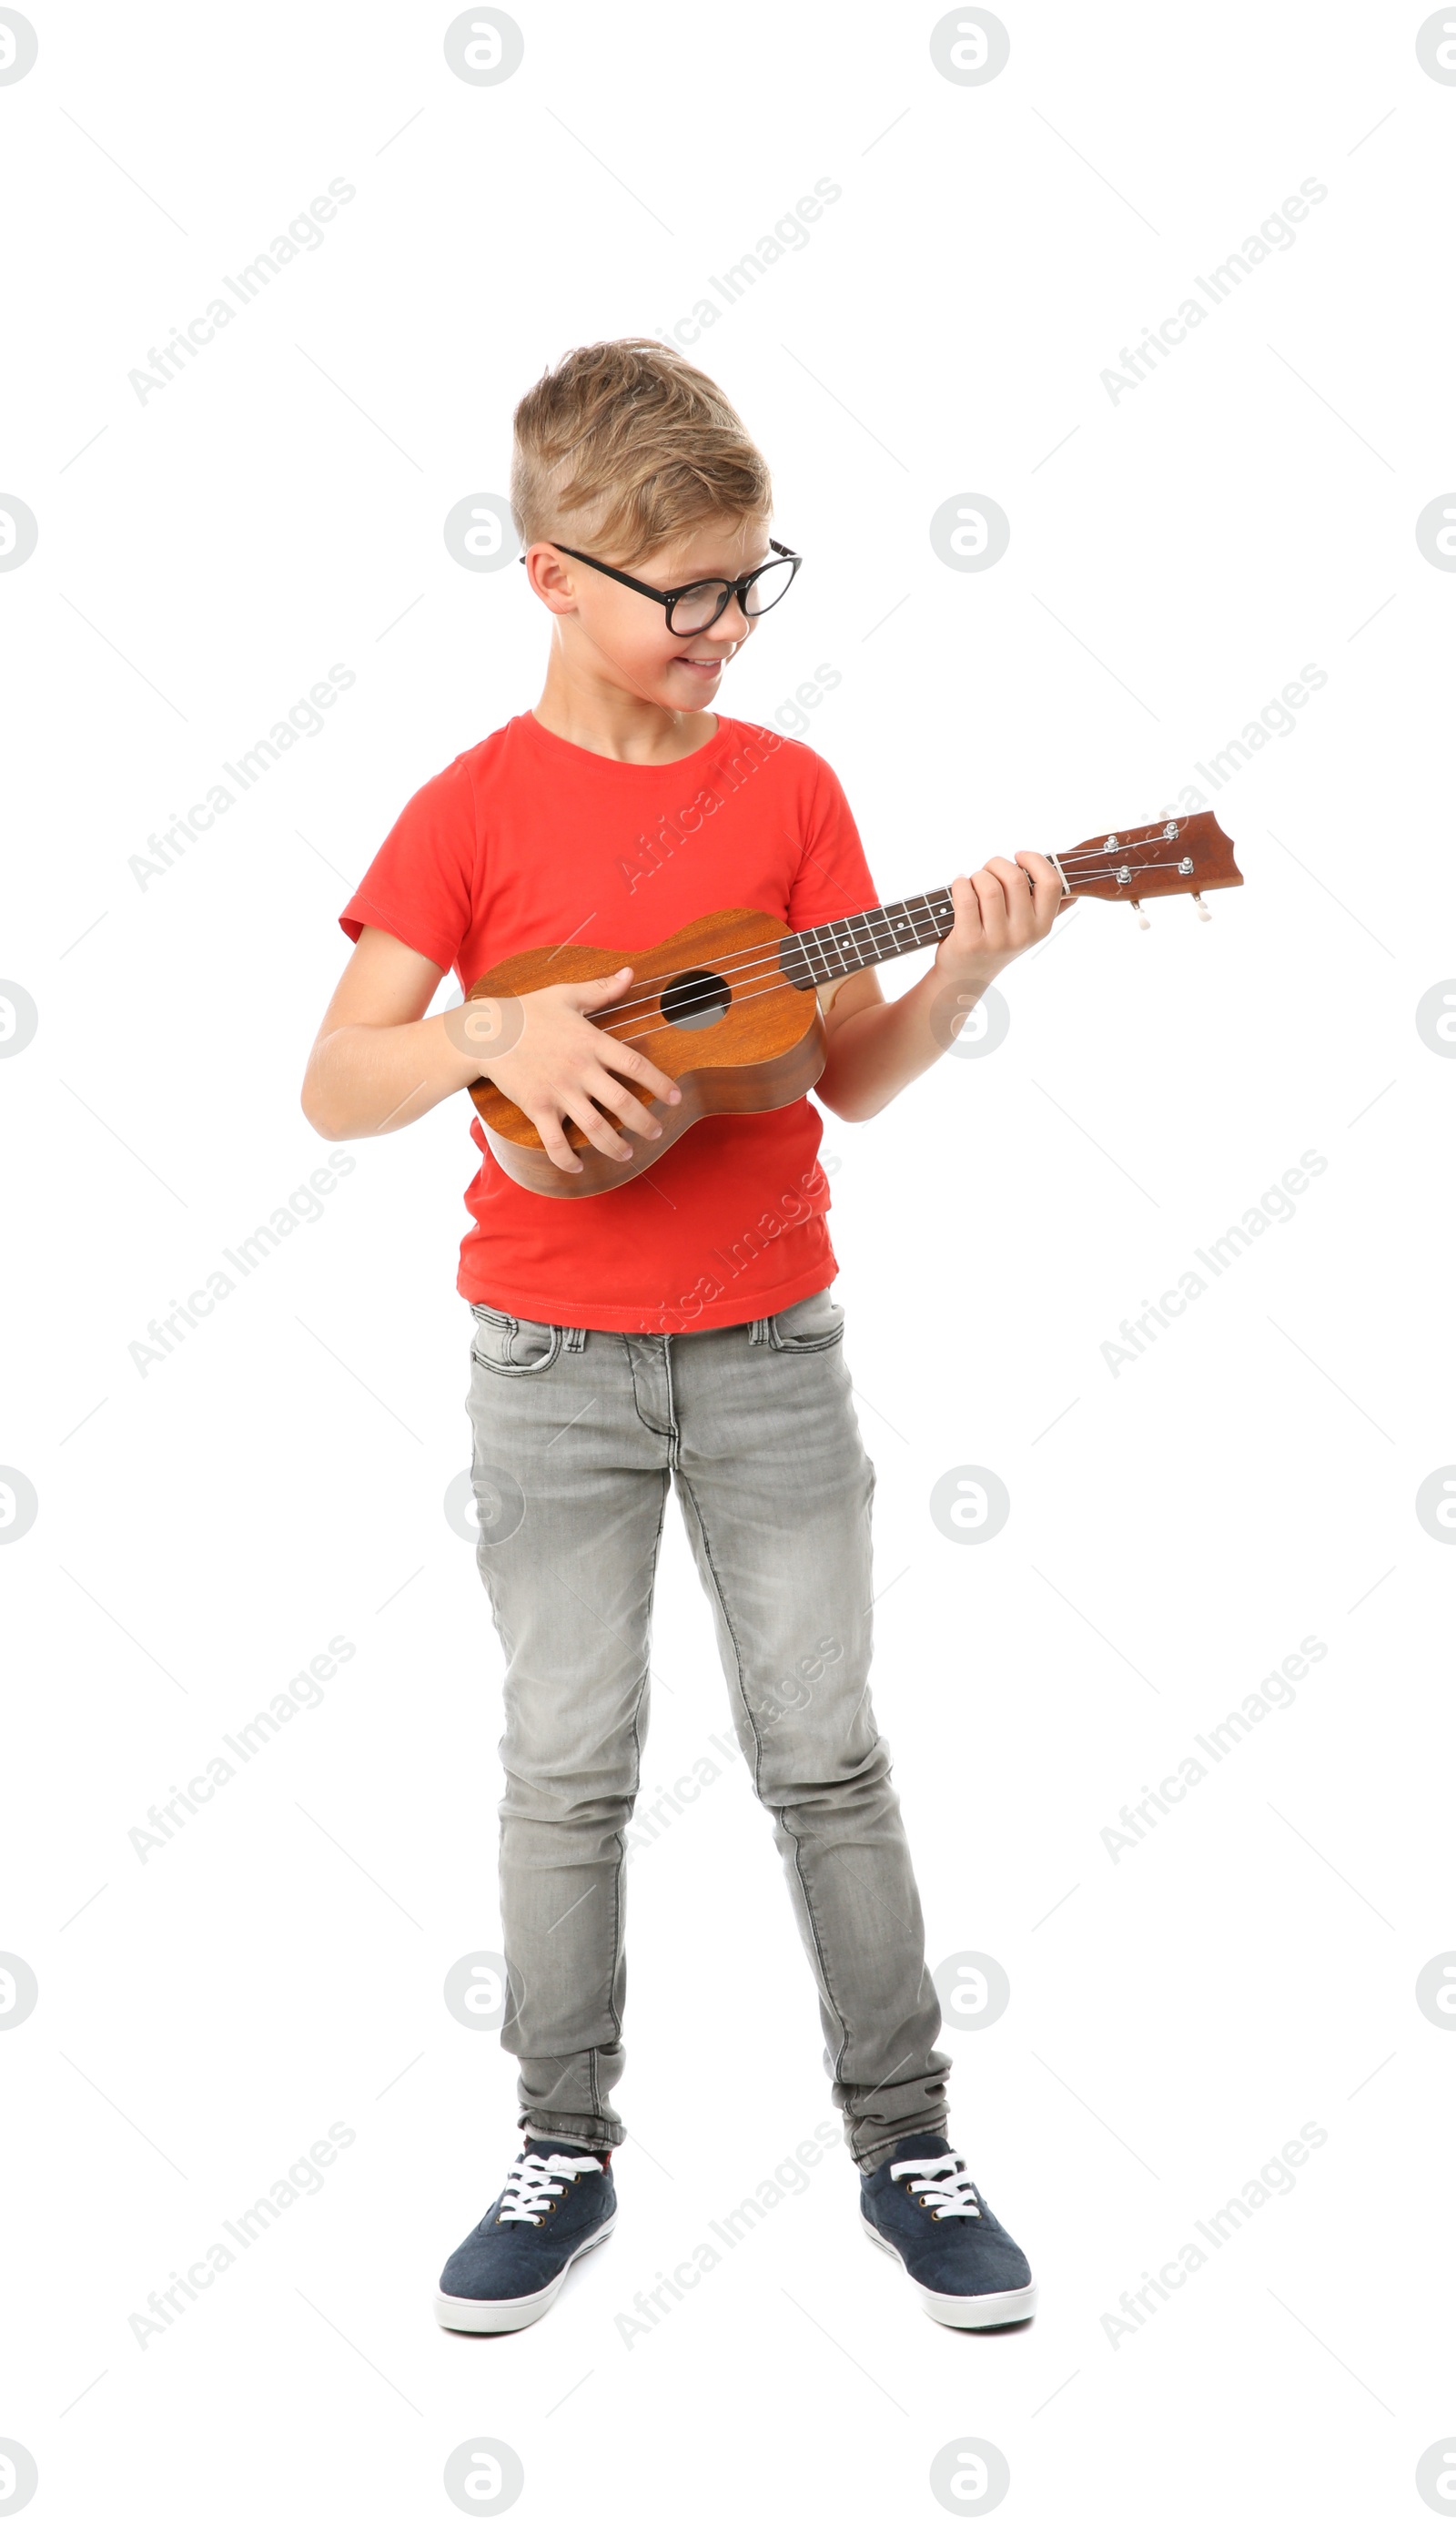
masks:
<instances>
[{"instance_id":1,"label":"plain white background surrounding the boy with the ukulele","mask_svg":"<svg viewBox=\"0 0 1456 2525\"><path fill-rule=\"evenodd\" d=\"M982 86L936 71L934 10L863 0L522 5L500 86L452 73L449 15L38 8L0 86L0 490L38 518L0 576L0 965L38 1007L0 1066L0 1457L38 1495L0 1555L0 1947L40 1987L0 2050L0 2437L66 2520L449 2517L472 2432L550 2520L934 2517L966 2432L1027 2525L1426 2515L1456 2424L1456 2040L1416 2005L1456 1947L1456 1553L1413 1500L1456 1457L1456 1066L1416 1002L1456 972L1456 576L1416 518L1456 475L1456 88L1398 8L1007 8ZM129 371L336 177L323 245L139 401ZM931 2326L835 2141L623 2341L828 2118L734 1762L631 1871L618 2235L535 2331L454 2338L434 2278L517 2136L512 2063L442 2002L500 1942L500 1651L442 1507L467 1101L356 1144L161 1364L129 1346L331 1154L298 1088L338 909L409 793L537 697L522 573L457 566L447 510L505 492L548 361L669 328L820 177L810 242L694 351L807 556L724 707L840 672L807 740L886 896L1151 818L1305 664L1327 682L1214 800L1247 884L1211 927L1077 909L1004 977L999 1050L828 1124L878 1717L931 1959L1012 1985L946 2030L951 2129L1042 2313ZM1297 242L1113 401L1100 371L1310 177ZM1009 550L951 571L929 520L974 492ZM336 662L323 730L139 884ZM1295 1220L1113 1374L1120 1318L1307 1149ZM929 1515L961 1464L1012 1497L979 1548ZM146 1808L333 1634L320 1707L141 1863ZM1113 1861L1123 1803L1310 1634L1295 1704ZM654 1664L646 1785L727 1727L676 1528ZM139 2346L149 2290L333 2121L323 2192ZM1110 2341L1307 2121L1292 2194Z\"/></svg>"}]
</instances>

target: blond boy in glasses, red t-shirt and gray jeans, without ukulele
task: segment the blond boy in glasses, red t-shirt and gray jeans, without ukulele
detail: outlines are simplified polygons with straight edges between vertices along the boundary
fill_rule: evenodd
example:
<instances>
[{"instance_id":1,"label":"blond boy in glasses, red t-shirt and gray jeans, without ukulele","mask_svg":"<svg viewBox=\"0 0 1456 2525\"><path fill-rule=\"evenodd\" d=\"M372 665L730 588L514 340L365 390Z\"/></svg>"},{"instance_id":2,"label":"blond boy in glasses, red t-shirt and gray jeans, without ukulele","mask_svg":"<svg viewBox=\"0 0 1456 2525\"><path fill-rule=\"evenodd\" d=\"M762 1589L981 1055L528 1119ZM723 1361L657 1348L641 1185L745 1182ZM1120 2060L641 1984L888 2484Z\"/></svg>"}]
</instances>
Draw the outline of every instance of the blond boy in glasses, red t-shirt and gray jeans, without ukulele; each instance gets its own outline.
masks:
<instances>
[{"instance_id":1,"label":"blond boy in glasses, red t-shirt and gray jeans, without ukulele","mask_svg":"<svg viewBox=\"0 0 1456 2525\"><path fill-rule=\"evenodd\" d=\"M805 745L717 717L724 664L797 556L737 412L654 341L573 351L515 414L510 500L550 614L535 712L429 780L341 914L356 942L308 1060L323 1139L396 1131L487 1076L580 1172L679 1101L590 1023L631 967L426 1018L454 970L636 937L729 904L810 929L878 896L840 783ZM934 967L886 1002L873 970L820 992L818 1098L878 1114L1047 937L1060 879L1032 851L954 881ZM931 1015L934 1013L934 1015ZM520 1189L482 1149L457 1288L472 1303L479 1573L507 1651L502 2043L525 2144L449 2257L437 2315L515 2331L613 2227L626 1826L646 1732L669 1485L714 1606L737 1740L767 1805L820 1995L825 2065L868 2235L964 2328L1035 2308L1024 2255L946 2141L949 2060L888 1750L868 1699L871 1487L807 1096L694 1124L593 1199ZM813 1674L813 1687L785 1677Z\"/></svg>"}]
</instances>

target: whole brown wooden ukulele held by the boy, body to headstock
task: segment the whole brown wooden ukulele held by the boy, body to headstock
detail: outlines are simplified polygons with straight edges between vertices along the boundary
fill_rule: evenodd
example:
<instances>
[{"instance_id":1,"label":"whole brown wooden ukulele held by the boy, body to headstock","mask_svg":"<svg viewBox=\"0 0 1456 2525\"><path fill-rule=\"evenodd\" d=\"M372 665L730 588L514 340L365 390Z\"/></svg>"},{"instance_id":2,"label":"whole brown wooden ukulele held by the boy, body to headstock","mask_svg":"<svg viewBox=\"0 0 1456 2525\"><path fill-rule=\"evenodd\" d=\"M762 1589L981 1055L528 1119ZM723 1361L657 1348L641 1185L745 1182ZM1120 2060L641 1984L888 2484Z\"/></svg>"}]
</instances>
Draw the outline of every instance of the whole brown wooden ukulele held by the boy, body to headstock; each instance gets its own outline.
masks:
<instances>
[{"instance_id":1,"label":"whole brown wooden ukulele held by the boy, body to headstock","mask_svg":"<svg viewBox=\"0 0 1456 2525\"><path fill-rule=\"evenodd\" d=\"M1090 894L1105 904L1133 904L1143 927L1146 896L1191 894L1199 917L1209 919L1204 889L1244 884L1234 843L1209 811L1143 823L1133 833L1105 833L1045 856L1062 879L1060 909L1072 896ZM492 1156L527 1192L580 1202L646 1174L709 1114L770 1114L795 1103L825 1066L818 985L916 947L936 947L951 927L951 889L936 886L934 894L853 912L820 929L785 929L770 912L709 912L641 954L603 947L530 947L512 954L482 972L467 1000L522 997L548 982L596 982L631 965L626 997L590 1023L618 1043L641 1045L676 1081L681 1103L661 1106L643 1088L631 1088L641 1103L651 1103L661 1139L638 1141L633 1134L628 1159L603 1156L575 1121L565 1121L565 1139L583 1172L563 1174L520 1106L490 1078L477 1078L469 1093Z\"/></svg>"}]
</instances>

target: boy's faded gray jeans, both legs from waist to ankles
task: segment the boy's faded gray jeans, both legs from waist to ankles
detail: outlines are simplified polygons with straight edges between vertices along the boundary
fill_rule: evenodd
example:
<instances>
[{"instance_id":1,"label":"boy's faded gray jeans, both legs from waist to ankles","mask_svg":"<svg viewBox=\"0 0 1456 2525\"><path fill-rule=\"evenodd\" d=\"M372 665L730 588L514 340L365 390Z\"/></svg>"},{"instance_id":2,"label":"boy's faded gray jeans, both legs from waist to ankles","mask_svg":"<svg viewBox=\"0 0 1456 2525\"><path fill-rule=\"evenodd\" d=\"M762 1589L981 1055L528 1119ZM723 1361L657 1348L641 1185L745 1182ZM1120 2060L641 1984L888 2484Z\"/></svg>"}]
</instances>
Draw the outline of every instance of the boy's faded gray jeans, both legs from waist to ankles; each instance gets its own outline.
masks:
<instances>
[{"instance_id":1,"label":"boy's faded gray jeans, both legs from waist to ankles","mask_svg":"<svg viewBox=\"0 0 1456 2525\"><path fill-rule=\"evenodd\" d=\"M502 2043L520 2126L616 2146L626 1828L676 1482L737 1742L772 1815L860 2166L944 2131L949 2058L871 1664L871 1495L823 1290L707 1333L474 1308L479 1573L505 1646Z\"/></svg>"}]
</instances>

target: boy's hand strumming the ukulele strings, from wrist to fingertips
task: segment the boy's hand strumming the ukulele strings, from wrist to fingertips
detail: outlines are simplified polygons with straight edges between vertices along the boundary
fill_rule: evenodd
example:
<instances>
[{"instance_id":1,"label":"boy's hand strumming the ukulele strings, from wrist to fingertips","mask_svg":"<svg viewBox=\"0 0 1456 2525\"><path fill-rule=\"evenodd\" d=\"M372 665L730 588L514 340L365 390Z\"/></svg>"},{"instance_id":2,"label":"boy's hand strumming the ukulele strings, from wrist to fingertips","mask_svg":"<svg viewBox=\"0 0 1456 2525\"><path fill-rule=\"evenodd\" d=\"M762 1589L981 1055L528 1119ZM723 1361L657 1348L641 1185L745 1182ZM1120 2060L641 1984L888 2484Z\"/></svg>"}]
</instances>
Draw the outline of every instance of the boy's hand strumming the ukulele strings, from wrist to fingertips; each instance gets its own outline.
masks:
<instances>
[{"instance_id":1,"label":"boy's hand strumming the ukulele strings, from wrist to fingertips","mask_svg":"<svg viewBox=\"0 0 1456 2525\"><path fill-rule=\"evenodd\" d=\"M623 1081L643 1086L661 1103L681 1103L681 1091L631 1043L618 1043L590 1013L621 1000L631 965L598 982L550 982L520 1000L464 1000L447 1010L447 1033L472 1063L472 1078L490 1078L535 1124L553 1167L580 1174L563 1121L575 1121L603 1156L631 1156L631 1141L613 1131L598 1103L618 1114L628 1131L661 1139L661 1124ZM467 1081L469 1083L469 1081ZM593 1101L596 1098L596 1101Z\"/></svg>"}]
</instances>

